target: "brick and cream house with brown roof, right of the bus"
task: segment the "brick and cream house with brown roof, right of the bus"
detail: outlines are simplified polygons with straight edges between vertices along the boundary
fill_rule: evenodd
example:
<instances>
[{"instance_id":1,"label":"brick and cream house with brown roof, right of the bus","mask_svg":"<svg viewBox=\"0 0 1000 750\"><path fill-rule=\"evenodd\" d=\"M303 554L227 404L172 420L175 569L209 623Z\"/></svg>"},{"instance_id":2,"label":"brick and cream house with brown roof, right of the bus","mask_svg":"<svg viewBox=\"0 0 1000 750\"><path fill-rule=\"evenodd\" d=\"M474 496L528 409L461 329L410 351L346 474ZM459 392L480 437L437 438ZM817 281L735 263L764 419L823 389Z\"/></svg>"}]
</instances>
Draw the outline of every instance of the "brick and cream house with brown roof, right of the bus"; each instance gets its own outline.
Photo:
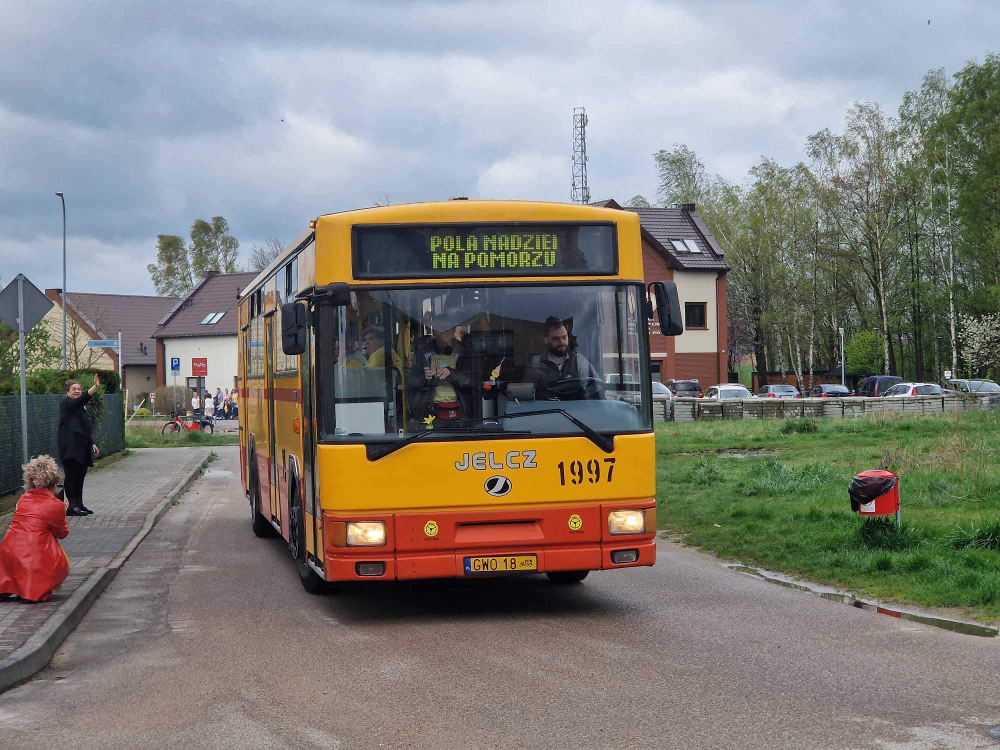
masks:
<instances>
[{"instance_id":1,"label":"brick and cream house with brown roof, right of the bus","mask_svg":"<svg viewBox=\"0 0 1000 750\"><path fill-rule=\"evenodd\" d=\"M663 336L649 328L654 380L697 378L703 389L728 380L726 362L725 253L693 203L670 207L621 206L613 199L592 205L634 211L642 227L642 265L647 283L677 284L684 333Z\"/></svg>"}]
</instances>

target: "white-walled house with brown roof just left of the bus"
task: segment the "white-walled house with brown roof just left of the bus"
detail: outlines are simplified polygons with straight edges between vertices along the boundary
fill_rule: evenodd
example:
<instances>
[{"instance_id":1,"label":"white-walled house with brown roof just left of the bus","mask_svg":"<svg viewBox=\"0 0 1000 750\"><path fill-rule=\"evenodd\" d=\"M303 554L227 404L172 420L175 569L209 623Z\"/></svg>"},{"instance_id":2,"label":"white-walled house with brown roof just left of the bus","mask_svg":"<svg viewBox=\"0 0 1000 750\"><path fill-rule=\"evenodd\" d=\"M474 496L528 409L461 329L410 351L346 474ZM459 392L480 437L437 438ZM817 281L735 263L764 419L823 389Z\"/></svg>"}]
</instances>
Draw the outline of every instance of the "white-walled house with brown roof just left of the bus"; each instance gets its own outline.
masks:
<instances>
[{"instance_id":1,"label":"white-walled house with brown roof just left of the bus","mask_svg":"<svg viewBox=\"0 0 1000 750\"><path fill-rule=\"evenodd\" d=\"M256 276L209 271L160 319L150 333L159 385L176 381L199 393L236 386L236 303ZM173 359L180 363L176 376Z\"/></svg>"}]
</instances>

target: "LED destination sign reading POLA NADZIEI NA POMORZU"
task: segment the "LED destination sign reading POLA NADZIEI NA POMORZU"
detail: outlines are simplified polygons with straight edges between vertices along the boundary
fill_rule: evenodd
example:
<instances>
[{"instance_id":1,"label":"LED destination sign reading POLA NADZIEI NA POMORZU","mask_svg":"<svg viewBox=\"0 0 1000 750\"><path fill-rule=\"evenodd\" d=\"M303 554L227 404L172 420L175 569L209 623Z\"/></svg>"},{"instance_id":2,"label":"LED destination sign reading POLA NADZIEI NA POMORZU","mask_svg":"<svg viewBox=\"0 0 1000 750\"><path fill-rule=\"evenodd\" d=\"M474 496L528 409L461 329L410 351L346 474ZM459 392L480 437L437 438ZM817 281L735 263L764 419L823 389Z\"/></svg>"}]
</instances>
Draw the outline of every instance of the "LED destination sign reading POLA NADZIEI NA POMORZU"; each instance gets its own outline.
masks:
<instances>
[{"instance_id":1,"label":"LED destination sign reading POLA NADZIEI NA POMORZU","mask_svg":"<svg viewBox=\"0 0 1000 750\"><path fill-rule=\"evenodd\" d=\"M617 265L611 224L354 228L359 279L612 274Z\"/></svg>"}]
</instances>

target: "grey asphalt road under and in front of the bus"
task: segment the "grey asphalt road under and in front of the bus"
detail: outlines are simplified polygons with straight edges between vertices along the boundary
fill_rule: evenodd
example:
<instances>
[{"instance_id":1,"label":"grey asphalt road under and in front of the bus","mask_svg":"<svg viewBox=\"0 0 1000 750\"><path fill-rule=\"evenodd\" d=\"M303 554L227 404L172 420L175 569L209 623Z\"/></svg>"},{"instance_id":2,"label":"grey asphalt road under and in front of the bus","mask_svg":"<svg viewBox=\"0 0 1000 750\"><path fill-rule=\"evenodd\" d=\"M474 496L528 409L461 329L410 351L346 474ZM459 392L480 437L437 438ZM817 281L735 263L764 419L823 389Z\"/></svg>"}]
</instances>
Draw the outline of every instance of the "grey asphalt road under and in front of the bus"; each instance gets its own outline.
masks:
<instances>
[{"instance_id":1,"label":"grey asphalt road under and in front of the bus","mask_svg":"<svg viewBox=\"0 0 1000 750\"><path fill-rule=\"evenodd\" d=\"M217 450L51 667L0 696L0 747L1000 747L1000 641L667 542L572 586L310 596Z\"/></svg>"}]
</instances>

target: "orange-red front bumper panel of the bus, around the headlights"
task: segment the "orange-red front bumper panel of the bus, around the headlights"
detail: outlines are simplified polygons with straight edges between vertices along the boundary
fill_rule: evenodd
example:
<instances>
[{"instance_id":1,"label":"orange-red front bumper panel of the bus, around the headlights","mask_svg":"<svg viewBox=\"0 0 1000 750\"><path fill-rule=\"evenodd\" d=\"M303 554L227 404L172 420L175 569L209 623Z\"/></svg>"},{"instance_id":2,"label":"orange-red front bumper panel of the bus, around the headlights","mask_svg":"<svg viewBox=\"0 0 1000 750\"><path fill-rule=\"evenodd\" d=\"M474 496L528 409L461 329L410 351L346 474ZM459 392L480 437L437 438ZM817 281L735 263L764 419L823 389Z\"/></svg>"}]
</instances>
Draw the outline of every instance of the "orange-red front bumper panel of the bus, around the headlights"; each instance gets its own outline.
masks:
<instances>
[{"instance_id":1,"label":"orange-red front bumper panel of the bus, around the headlights","mask_svg":"<svg viewBox=\"0 0 1000 750\"><path fill-rule=\"evenodd\" d=\"M648 533L611 535L608 513L646 510ZM502 511L341 515L323 513L324 567L330 581L460 578L465 558L477 555L535 555L537 572L610 570L656 562L653 500L607 505L518 508ZM337 546L348 521L384 521L381 547ZM342 541L341 541L342 544ZM615 563L612 552L636 550L638 559ZM361 576L358 563L381 562L380 576Z\"/></svg>"}]
</instances>

